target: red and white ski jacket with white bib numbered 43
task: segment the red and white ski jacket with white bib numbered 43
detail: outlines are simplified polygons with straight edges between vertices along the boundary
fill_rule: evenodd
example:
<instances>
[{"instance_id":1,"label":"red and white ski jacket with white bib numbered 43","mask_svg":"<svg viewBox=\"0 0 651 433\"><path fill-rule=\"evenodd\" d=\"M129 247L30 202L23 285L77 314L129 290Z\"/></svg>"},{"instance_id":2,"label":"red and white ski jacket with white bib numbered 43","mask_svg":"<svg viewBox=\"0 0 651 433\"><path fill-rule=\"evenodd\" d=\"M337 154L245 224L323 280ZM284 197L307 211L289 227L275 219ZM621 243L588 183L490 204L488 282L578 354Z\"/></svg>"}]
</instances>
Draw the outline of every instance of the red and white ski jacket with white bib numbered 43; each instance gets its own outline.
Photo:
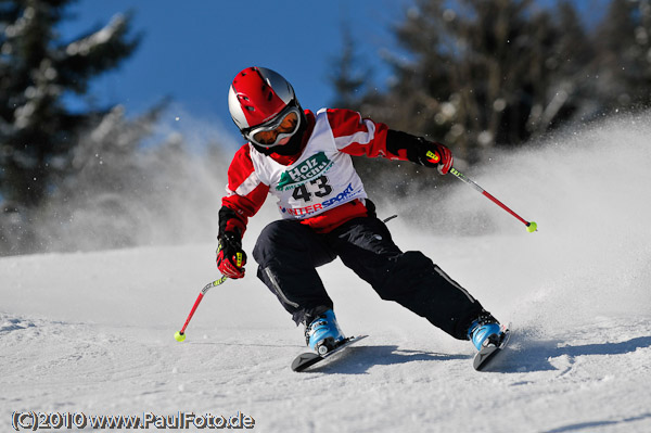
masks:
<instances>
[{"instance_id":1,"label":"red and white ski jacket with white bib numbered 43","mask_svg":"<svg viewBox=\"0 0 651 433\"><path fill-rule=\"evenodd\" d=\"M302 152L293 156L265 155L251 143L235 153L228 169L222 205L233 218L225 231L243 234L268 194L278 199L283 218L296 219L318 232L367 216L366 191L350 156L407 161L407 150L387 150L388 127L349 110L305 111L307 129ZM221 221L220 221L221 225Z\"/></svg>"}]
</instances>

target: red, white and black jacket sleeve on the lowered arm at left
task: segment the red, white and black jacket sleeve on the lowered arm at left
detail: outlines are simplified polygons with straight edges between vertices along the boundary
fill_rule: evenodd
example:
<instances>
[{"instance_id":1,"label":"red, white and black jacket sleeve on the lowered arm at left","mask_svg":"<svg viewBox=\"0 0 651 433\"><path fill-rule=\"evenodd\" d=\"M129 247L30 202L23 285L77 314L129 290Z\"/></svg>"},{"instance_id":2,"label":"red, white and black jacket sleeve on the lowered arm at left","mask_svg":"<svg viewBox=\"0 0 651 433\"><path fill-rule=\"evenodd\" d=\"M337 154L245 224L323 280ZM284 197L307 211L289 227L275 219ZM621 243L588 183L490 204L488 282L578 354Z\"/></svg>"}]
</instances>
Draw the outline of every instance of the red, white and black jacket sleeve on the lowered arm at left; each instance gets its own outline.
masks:
<instances>
[{"instance_id":1,"label":"red, white and black jacket sleeve on the lowered arm at left","mask_svg":"<svg viewBox=\"0 0 651 433\"><path fill-rule=\"evenodd\" d=\"M226 196L221 199L219 209L219 237L225 232L242 237L248 218L257 214L267 199L269 186L258 178L250 149L248 144L240 148L228 168Z\"/></svg>"}]
</instances>

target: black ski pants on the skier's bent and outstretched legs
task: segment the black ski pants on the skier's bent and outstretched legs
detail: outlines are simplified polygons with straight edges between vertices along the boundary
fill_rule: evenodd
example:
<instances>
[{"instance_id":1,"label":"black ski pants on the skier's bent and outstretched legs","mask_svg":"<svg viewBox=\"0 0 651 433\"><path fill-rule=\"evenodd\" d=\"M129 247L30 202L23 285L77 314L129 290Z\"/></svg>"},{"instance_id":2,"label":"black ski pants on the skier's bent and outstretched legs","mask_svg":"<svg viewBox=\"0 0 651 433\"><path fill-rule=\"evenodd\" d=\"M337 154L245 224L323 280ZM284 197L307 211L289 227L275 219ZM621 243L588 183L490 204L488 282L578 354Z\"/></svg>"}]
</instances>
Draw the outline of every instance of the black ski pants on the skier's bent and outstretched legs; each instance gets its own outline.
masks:
<instances>
[{"instance_id":1,"label":"black ski pants on the skier's bent and outstretched legs","mask_svg":"<svg viewBox=\"0 0 651 433\"><path fill-rule=\"evenodd\" d=\"M296 220L277 220L261 231L253 256L258 278L297 324L333 307L316 268L337 256L380 297L397 302L456 339L465 340L470 323L485 314L421 252L403 253L375 217L355 218L329 233L317 233Z\"/></svg>"}]
</instances>

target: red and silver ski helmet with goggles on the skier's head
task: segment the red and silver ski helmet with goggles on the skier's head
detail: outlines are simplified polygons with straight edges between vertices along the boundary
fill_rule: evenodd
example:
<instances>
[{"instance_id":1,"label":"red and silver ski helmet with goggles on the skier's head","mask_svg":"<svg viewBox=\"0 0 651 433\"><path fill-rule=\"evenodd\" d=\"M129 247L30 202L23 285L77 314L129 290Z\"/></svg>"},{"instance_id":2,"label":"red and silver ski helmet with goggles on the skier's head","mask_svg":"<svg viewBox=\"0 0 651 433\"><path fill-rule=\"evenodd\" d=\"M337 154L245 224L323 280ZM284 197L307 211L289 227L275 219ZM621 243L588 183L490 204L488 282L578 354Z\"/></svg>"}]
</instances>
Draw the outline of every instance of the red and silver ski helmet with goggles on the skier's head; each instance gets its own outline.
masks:
<instances>
[{"instance_id":1,"label":"red and silver ski helmet with goggles on the skier's head","mask_svg":"<svg viewBox=\"0 0 651 433\"><path fill-rule=\"evenodd\" d=\"M228 109L242 135L264 148L282 144L282 139L293 136L302 117L292 85L265 67L247 67L235 76Z\"/></svg>"}]
</instances>

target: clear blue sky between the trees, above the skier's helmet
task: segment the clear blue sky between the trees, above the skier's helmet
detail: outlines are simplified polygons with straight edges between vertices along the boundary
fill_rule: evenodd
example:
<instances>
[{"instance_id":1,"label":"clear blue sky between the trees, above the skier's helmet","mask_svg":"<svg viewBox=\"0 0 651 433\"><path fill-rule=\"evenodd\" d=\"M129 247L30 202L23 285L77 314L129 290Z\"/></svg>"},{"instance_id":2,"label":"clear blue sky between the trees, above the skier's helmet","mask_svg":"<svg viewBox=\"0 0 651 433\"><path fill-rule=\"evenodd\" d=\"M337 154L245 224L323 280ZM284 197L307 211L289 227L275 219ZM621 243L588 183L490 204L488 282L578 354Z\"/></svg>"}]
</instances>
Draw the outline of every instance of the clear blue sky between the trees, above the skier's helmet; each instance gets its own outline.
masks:
<instances>
[{"instance_id":1,"label":"clear blue sky between the trees, above the skier's helmet","mask_svg":"<svg viewBox=\"0 0 651 433\"><path fill-rule=\"evenodd\" d=\"M93 81L101 104L123 104L127 115L144 112L163 95L192 115L237 129L228 114L228 87L244 67L270 67L294 86L306 109L333 99L328 81L348 23L359 56L382 84L379 52L395 46L388 28L403 18L406 0L220 1L80 0L60 28L64 40L103 26L116 14L135 12L132 29L144 33L138 51L119 69Z\"/></svg>"}]
</instances>

